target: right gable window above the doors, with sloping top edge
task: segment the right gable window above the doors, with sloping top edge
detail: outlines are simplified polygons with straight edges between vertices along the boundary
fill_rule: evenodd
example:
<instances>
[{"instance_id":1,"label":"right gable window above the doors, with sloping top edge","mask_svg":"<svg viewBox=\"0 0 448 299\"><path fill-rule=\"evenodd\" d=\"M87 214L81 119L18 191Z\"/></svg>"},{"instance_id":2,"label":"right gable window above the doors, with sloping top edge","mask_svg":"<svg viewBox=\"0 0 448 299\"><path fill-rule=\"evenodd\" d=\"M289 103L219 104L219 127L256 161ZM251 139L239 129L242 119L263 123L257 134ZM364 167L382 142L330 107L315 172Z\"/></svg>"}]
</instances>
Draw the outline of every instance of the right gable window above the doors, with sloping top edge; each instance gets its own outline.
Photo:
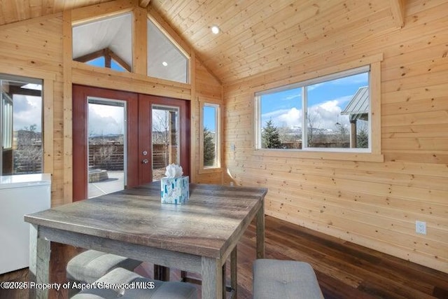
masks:
<instances>
[{"instance_id":1,"label":"right gable window above the doors, with sloping top edge","mask_svg":"<svg viewBox=\"0 0 448 299\"><path fill-rule=\"evenodd\" d=\"M188 83L188 58L148 20L148 76Z\"/></svg>"}]
</instances>

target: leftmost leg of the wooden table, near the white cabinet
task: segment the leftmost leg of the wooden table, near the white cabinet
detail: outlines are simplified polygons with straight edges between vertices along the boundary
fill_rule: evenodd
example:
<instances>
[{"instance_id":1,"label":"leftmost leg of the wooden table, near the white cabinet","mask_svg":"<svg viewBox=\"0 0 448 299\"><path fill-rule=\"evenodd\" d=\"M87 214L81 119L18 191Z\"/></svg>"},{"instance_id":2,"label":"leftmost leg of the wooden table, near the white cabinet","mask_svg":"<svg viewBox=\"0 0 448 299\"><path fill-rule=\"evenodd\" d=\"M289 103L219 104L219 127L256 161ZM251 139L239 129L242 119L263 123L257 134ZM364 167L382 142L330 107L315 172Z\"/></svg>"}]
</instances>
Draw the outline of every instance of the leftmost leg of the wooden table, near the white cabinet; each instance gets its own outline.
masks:
<instances>
[{"instance_id":1,"label":"leftmost leg of the wooden table, near the white cabinet","mask_svg":"<svg viewBox=\"0 0 448 299\"><path fill-rule=\"evenodd\" d=\"M29 225L29 281L48 284L50 241L38 235L38 225ZM48 288L29 288L29 298L48 298Z\"/></svg>"}]
</instances>

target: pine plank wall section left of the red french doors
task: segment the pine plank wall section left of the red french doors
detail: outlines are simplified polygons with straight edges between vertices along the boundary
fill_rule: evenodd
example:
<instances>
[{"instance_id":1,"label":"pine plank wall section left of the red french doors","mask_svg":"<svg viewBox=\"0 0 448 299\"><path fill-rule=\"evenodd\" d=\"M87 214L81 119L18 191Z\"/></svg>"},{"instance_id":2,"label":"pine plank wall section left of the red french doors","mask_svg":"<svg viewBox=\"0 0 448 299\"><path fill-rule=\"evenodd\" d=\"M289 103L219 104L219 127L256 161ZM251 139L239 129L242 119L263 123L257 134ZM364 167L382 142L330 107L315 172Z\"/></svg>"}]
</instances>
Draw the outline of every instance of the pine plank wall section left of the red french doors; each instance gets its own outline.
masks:
<instances>
[{"instance_id":1,"label":"pine plank wall section left of the red french doors","mask_svg":"<svg viewBox=\"0 0 448 299\"><path fill-rule=\"evenodd\" d=\"M62 14L0 27L0 72L44 80L44 172L52 174L52 204L64 197ZM50 118L50 122L48 122ZM50 138L48 138L50 137ZM52 137L52 138L51 138Z\"/></svg>"}]
</instances>

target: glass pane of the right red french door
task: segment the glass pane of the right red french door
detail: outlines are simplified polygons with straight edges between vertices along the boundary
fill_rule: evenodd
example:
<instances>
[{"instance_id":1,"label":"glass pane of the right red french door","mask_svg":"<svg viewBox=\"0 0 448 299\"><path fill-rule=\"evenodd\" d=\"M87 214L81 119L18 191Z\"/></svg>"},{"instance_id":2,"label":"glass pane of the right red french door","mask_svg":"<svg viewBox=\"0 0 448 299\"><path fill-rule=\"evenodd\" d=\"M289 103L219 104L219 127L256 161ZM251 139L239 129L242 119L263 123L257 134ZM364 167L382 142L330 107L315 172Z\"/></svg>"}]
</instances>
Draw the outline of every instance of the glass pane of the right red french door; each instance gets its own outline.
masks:
<instances>
[{"instance_id":1,"label":"glass pane of the right red french door","mask_svg":"<svg viewBox=\"0 0 448 299\"><path fill-rule=\"evenodd\" d=\"M153 181L165 176L169 164L180 164L179 107L153 105Z\"/></svg>"}]
</instances>

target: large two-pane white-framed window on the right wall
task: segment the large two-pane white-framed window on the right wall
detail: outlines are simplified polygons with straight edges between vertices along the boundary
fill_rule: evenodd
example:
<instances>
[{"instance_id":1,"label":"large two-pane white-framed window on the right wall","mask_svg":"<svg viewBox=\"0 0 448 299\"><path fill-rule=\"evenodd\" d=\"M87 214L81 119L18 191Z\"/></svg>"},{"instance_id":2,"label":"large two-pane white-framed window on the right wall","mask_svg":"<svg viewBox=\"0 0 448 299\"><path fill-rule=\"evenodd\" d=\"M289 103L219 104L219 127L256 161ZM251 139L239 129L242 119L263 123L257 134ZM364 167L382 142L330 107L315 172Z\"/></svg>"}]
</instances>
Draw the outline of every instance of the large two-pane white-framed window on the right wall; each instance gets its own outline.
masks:
<instances>
[{"instance_id":1,"label":"large two-pane white-framed window on the right wall","mask_svg":"<svg viewBox=\"0 0 448 299\"><path fill-rule=\"evenodd\" d=\"M255 93L257 148L370 153L370 66Z\"/></svg>"}]
</instances>

